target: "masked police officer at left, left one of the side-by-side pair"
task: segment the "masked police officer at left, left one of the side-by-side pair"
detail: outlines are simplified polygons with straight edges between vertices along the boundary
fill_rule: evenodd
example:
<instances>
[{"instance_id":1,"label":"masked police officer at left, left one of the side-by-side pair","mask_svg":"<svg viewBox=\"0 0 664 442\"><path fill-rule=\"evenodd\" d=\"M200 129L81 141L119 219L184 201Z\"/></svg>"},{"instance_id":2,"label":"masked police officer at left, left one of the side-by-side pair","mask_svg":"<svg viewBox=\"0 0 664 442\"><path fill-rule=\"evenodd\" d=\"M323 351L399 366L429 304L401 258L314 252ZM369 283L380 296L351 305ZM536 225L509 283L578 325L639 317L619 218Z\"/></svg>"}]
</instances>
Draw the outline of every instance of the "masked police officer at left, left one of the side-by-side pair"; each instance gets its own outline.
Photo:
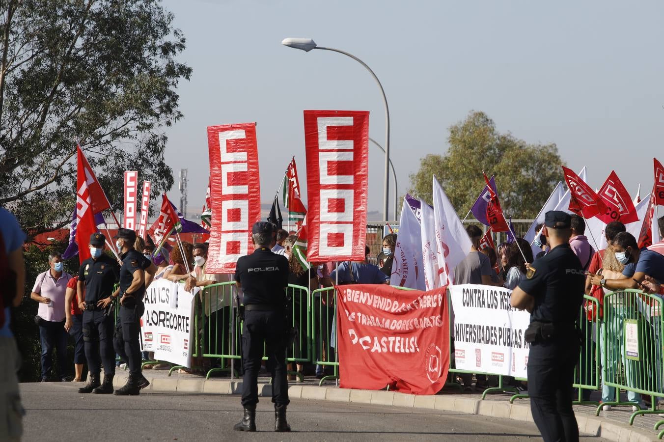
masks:
<instances>
[{"instance_id":1,"label":"masked police officer at left, left one of the side-by-side pair","mask_svg":"<svg viewBox=\"0 0 664 442\"><path fill-rule=\"evenodd\" d=\"M120 277L120 266L104 253L106 237L96 233L90 236L90 255L78 270L76 291L83 310L83 344L90 376L88 384L79 393L113 393L116 373L113 351L113 286ZM85 298L82 296L85 292ZM101 364L104 364L104 384L100 384Z\"/></svg>"}]
</instances>

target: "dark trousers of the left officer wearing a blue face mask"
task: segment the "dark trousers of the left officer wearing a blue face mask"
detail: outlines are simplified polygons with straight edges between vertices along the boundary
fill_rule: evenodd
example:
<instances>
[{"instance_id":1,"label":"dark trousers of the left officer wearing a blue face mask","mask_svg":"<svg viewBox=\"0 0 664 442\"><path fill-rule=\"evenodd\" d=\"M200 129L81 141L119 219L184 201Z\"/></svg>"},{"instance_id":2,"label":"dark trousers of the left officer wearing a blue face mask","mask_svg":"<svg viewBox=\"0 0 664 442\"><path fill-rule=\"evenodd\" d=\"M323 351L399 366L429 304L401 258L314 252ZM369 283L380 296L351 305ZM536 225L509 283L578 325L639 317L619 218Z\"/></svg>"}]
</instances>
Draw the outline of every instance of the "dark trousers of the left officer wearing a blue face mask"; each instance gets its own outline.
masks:
<instances>
[{"instance_id":1,"label":"dark trousers of the left officer wearing a blue face mask","mask_svg":"<svg viewBox=\"0 0 664 442\"><path fill-rule=\"evenodd\" d=\"M116 373L116 354L113 351L113 317L102 311L83 312L83 345L90 374Z\"/></svg>"}]
</instances>

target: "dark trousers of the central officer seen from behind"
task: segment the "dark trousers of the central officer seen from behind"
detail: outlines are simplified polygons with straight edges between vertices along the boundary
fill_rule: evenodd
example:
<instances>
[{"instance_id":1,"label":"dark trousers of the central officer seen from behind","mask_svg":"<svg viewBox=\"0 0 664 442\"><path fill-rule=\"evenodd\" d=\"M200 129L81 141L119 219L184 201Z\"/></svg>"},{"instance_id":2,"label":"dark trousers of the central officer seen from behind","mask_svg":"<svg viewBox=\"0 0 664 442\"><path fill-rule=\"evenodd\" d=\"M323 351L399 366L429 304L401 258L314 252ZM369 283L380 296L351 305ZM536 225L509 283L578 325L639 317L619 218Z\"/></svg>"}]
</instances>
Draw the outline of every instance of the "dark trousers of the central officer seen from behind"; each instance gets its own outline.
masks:
<instances>
[{"instance_id":1,"label":"dark trousers of the central officer seen from behind","mask_svg":"<svg viewBox=\"0 0 664 442\"><path fill-rule=\"evenodd\" d=\"M258 369L263 346L268 356L266 367L272 374L272 402L288 405L286 372L286 315L277 311L245 311L242 327L242 356L244 380L242 405L258 404Z\"/></svg>"}]
</instances>

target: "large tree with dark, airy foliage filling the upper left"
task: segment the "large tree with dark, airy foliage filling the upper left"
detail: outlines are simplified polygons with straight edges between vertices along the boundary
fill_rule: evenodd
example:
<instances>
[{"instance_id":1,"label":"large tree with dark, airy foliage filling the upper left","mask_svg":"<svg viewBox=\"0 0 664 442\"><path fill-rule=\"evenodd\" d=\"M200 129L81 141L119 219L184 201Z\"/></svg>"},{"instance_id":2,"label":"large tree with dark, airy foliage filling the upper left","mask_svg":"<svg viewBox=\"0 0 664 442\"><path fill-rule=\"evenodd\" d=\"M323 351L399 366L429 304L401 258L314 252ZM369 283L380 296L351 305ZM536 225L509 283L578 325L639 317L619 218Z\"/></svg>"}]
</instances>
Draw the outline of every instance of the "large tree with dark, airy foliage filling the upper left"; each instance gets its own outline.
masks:
<instances>
[{"instance_id":1,"label":"large tree with dark, airy foliage filling the upper left","mask_svg":"<svg viewBox=\"0 0 664 442\"><path fill-rule=\"evenodd\" d=\"M32 235L66 225L76 141L122 206L122 171L173 186L163 127L183 115L185 38L157 0L0 1L0 204Z\"/></svg>"}]
</instances>

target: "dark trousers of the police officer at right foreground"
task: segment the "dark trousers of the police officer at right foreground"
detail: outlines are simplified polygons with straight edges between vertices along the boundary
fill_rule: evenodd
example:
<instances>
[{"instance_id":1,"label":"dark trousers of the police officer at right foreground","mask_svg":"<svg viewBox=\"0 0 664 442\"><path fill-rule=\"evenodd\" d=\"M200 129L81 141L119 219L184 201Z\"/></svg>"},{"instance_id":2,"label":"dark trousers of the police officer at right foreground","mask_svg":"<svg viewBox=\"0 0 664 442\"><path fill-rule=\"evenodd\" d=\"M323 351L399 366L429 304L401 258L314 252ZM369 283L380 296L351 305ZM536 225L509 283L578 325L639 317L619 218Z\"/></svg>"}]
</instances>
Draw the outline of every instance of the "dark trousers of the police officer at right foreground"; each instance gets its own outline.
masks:
<instances>
[{"instance_id":1,"label":"dark trousers of the police officer at right foreground","mask_svg":"<svg viewBox=\"0 0 664 442\"><path fill-rule=\"evenodd\" d=\"M528 394L533 420L544 442L579 439L572 409L572 384L578 357L579 342L573 336L531 344Z\"/></svg>"}]
</instances>

